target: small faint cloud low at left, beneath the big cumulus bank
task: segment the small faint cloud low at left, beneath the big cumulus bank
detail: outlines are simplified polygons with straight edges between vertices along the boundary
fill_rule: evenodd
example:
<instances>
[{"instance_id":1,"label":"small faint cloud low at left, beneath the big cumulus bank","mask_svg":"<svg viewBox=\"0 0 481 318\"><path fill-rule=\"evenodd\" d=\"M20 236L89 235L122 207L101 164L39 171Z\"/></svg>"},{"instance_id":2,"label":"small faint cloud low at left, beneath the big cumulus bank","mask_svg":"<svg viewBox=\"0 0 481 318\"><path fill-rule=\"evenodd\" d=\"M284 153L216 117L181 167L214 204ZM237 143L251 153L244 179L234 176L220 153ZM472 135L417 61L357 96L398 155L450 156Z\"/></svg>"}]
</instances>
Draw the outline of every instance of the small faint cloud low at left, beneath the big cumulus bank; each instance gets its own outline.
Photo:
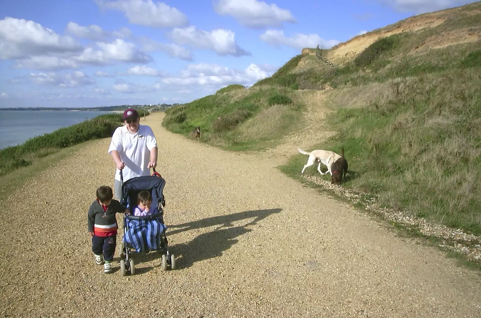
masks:
<instances>
[{"instance_id":1,"label":"small faint cloud low at left, beneath the big cumulus bank","mask_svg":"<svg viewBox=\"0 0 481 318\"><path fill-rule=\"evenodd\" d=\"M80 71L73 73L30 73L28 79L35 85L56 86L62 88L73 88L95 84L95 79Z\"/></svg>"}]
</instances>

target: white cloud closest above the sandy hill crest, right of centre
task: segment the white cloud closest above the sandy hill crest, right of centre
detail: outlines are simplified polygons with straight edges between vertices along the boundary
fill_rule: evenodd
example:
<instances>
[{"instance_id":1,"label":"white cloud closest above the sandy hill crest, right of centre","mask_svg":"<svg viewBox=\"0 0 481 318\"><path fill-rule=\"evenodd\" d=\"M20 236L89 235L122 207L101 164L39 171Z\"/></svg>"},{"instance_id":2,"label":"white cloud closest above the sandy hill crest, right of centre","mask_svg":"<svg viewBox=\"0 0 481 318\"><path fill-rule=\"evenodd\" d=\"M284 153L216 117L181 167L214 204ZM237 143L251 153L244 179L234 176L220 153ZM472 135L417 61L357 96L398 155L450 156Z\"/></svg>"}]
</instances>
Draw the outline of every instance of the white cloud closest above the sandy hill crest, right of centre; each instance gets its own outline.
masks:
<instances>
[{"instance_id":1,"label":"white cloud closest above the sandy hill crest, right of centre","mask_svg":"<svg viewBox=\"0 0 481 318\"><path fill-rule=\"evenodd\" d=\"M317 45L329 49L340 42L338 40L325 40L317 34L295 33L292 37L286 37L282 30L266 30L259 38L273 46L286 45L302 50L303 48L315 48Z\"/></svg>"}]
</instances>

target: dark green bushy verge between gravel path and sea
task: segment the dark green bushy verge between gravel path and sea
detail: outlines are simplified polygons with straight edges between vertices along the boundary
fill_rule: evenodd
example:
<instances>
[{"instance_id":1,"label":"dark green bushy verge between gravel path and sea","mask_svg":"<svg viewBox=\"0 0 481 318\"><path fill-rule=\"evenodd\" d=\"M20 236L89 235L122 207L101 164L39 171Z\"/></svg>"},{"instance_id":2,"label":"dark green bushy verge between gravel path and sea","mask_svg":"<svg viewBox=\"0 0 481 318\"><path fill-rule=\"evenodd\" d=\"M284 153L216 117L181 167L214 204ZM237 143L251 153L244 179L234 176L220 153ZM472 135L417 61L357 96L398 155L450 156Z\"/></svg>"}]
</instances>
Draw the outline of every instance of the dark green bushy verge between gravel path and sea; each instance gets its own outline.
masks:
<instances>
[{"instance_id":1,"label":"dark green bushy verge between gravel path and sea","mask_svg":"<svg viewBox=\"0 0 481 318\"><path fill-rule=\"evenodd\" d=\"M139 110L139 115L148 112ZM63 127L54 132L37 136L23 144L0 150L0 177L11 174L19 168L35 164L42 158L61 149L99 138L111 137L115 128L122 125L122 114L102 114L82 123Z\"/></svg>"}]
</instances>

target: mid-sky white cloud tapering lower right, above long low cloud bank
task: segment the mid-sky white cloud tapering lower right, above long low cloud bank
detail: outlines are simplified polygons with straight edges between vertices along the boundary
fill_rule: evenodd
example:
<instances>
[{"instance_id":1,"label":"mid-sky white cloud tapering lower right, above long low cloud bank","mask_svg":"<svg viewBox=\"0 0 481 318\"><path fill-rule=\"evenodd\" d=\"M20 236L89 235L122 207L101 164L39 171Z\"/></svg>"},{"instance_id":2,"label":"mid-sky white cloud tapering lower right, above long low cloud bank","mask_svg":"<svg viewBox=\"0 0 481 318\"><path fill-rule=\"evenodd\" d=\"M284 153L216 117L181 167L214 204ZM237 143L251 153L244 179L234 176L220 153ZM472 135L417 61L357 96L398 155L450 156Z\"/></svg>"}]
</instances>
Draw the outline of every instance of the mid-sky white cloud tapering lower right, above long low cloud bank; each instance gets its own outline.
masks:
<instances>
[{"instance_id":1,"label":"mid-sky white cloud tapering lower right, above long low cloud bank","mask_svg":"<svg viewBox=\"0 0 481 318\"><path fill-rule=\"evenodd\" d=\"M217 55L251 55L239 47L235 33L231 30L215 29L210 32L198 30L191 25L186 28L175 28L169 34L174 42L180 45L191 45L196 49L214 50Z\"/></svg>"}]
</instances>

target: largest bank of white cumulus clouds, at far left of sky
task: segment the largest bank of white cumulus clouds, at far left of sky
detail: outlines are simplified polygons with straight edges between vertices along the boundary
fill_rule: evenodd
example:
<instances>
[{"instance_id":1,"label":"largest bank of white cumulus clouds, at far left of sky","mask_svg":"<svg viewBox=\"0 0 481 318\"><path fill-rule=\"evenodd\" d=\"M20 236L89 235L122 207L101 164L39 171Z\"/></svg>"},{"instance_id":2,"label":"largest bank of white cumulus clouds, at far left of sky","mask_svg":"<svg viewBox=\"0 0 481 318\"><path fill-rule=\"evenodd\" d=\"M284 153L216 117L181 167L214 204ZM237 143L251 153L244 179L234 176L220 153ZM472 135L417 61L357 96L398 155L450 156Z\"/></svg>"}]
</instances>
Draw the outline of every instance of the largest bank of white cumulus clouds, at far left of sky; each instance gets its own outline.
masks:
<instances>
[{"instance_id":1,"label":"largest bank of white cumulus clouds, at far left of sky","mask_svg":"<svg viewBox=\"0 0 481 318\"><path fill-rule=\"evenodd\" d=\"M67 28L76 35L89 38L107 36L103 29L92 25L85 29L81 25L70 23ZM74 29L76 31L73 31ZM123 35L128 36L130 31L127 30L115 32L124 32ZM111 35L115 35L115 32ZM14 68L41 71L76 69L85 64L107 65L116 62L145 64L153 60L134 43L121 38L116 38L112 42L97 41L94 45L84 48L70 36L61 36L34 21L10 17L0 20L0 59L15 60Z\"/></svg>"}]
</instances>

